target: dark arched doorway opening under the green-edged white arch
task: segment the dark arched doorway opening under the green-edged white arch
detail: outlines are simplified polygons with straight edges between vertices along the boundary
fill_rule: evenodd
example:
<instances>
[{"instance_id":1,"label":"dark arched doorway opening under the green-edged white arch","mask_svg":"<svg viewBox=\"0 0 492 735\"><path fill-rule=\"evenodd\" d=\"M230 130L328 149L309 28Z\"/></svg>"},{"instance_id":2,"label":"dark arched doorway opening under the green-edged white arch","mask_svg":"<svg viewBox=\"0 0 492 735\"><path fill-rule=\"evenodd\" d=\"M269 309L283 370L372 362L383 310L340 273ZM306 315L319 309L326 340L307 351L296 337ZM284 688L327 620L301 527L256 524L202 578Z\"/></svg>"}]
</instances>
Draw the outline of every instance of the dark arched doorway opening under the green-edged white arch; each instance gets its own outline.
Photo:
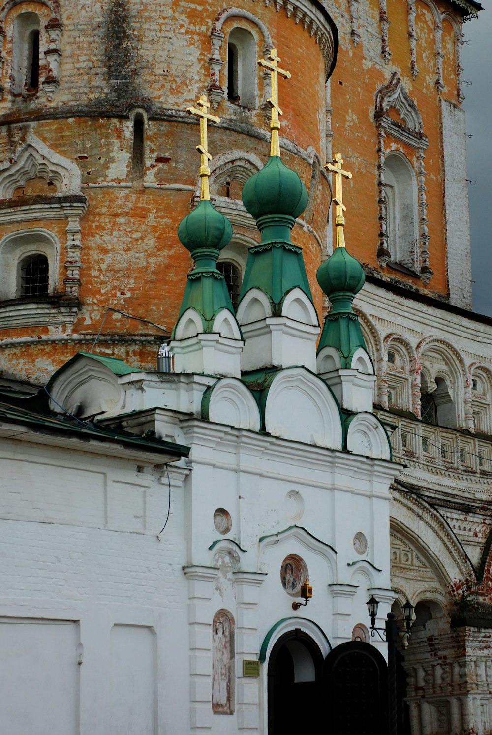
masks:
<instances>
[{"instance_id":1,"label":"dark arched doorway opening under the green-edged white arch","mask_svg":"<svg viewBox=\"0 0 492 735\"><path fill-rule=\"evenodd\" d=\"M268 735L305 731L321 712L323 654L304 631L280 637L268 659Z\"/></svg>"}]
</instances>

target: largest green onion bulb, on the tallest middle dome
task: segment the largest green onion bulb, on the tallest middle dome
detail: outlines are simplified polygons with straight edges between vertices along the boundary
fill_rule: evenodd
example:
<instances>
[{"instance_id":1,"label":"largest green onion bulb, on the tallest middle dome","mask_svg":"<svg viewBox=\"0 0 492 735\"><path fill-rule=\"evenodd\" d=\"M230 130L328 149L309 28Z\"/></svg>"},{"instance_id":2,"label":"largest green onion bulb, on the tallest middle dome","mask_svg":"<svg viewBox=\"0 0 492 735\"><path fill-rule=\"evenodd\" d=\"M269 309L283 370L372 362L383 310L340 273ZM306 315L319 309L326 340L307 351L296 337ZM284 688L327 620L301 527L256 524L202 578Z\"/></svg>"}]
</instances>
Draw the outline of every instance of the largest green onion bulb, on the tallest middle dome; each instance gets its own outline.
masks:
<instances>
[{"instance_id":1,"label":"largest green onion bulb, on the tallest middle dome","mask_svg":"<svg viewBox=\"0 0 492 735\"><path fill-rule=\"evenodd\" d=\"M307 189L295 171L271 156L243 186L243 203L257 220L265 215L299 217L307 205Z\"/></svg>"}]
</instances>

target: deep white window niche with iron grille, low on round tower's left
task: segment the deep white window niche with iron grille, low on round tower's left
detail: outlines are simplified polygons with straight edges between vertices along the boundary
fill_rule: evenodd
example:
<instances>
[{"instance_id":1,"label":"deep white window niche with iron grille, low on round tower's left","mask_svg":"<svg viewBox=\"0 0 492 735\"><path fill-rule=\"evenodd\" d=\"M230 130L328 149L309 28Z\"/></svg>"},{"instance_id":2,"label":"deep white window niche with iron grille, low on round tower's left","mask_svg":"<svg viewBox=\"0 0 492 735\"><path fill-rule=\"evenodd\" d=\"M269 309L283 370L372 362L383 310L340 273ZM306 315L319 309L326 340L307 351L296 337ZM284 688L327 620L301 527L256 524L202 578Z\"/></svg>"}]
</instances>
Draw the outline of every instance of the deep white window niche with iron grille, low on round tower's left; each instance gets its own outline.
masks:
<instances>
[{"instance_id":1,"label":"deep white window niche with iron grille, low on round tower's left","mask_svg":"<svg viewBox=\"0 0 492 735\"><path fill-rule=\"evenodd\" d=\"M59 254L57 237L48 230L6 235L0 243L0 301L55 293Z\"/></svg>"}]
</instances>

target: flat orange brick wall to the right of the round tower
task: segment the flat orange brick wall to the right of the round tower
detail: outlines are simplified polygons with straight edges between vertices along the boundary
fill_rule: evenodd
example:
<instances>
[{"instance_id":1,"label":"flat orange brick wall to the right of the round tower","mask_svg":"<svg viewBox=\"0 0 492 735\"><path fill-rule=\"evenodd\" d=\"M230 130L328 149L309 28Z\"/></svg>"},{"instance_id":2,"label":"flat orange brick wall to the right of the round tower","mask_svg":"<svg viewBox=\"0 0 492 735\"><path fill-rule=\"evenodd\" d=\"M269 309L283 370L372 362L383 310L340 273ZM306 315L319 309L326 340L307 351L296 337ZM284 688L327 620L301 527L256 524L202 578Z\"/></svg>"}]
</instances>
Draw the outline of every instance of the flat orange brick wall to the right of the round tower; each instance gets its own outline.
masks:
<instances>
[{"instance_id":1,"label":"flat orange brick wall to the right of the round tower","mask_svg":"<svg viewBox=\"0 0 492 735\"><path fill-rule=\"evenodd\" d=\"M344 6L335 5L335 22L345 13ZM333 151L342 151L345 166L354 174L346 185L346 243L361 262L380 270L377 262L378 205L377 205L377 130L374 124L376 94L385 85L392 71L399 73L410 98L421 114L424 134L429 139L425 151L427 220L429 229L429 260L434 276L427 286L421 279L385 268L385 276L408 282L418 290L446 297L446 235L443 214L444 187L441 146L440 95L435 85L435 24L429 7L416 2L416 60L419 72L413 79L410 70L410 40L408 37L407 3L388 0L388 46L391 60L385 63L381 53L379 3L371 0L360 15L360 24L368 21L361 31L362 40L354 47L346 24L340 35L340 49L335 72L331 79ZM439 10L450 10L446 3L438 3ZM339 26L340 28L340 26ZM443 21L443 83L441 93L457 103L456 60L454 30ZM398 115L391 115L398 120ZM398 140L386 137L387 150L402 151L416 169L416 151Z\"/></svg>"}]
</instances>

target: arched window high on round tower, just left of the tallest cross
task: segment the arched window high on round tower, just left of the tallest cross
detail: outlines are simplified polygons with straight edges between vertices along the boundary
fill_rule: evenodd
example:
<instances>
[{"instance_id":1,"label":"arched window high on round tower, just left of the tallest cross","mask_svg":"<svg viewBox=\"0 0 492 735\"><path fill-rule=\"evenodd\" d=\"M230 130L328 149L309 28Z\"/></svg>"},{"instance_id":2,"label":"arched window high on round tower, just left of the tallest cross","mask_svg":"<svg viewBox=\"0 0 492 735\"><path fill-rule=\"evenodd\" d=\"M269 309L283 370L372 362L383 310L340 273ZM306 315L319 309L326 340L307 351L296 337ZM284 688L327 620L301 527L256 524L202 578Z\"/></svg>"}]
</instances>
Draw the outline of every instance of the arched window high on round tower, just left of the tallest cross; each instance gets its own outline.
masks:
<instances>
[{"instance_id":1,"label":"arched window high on round tower, just left of the tallest cross","mask_svg":"<svg viewBox=\"0 0 492 735\"><path fill-rule=\"evenodd\" d=\"M242 107L256 107L257 53L253 35L233 28L227 45L227 98Z\"/></svg>"}]
</instances>

